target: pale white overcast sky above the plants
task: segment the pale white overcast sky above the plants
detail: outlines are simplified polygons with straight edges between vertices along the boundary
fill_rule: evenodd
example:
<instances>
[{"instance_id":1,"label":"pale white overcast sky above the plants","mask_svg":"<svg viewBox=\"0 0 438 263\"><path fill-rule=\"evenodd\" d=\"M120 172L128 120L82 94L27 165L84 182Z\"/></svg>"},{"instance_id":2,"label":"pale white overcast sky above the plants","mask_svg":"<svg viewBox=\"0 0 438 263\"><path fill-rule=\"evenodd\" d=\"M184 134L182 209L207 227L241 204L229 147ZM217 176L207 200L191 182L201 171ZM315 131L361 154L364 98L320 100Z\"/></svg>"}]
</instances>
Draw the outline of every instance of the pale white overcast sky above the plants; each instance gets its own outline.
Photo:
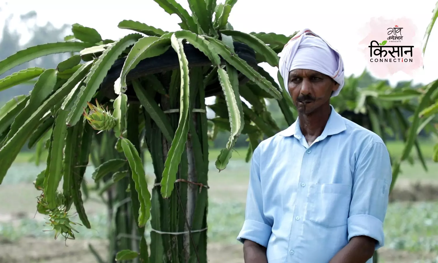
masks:
<instances>
[{"instance_id":1,"label":"pale white overcast sky above the plants","mask_svg":"<svg viewBox=\"0 0 438 263\"><path fill-rule=\"evenodd\" d=\"M186 0L177 0L187 8ZM223 2L223 1L221 1ZM153 0L14 0L0 5L0 26L7 14L14 14L12 25L27 36L25 26L19 25L19 15L29 11L38 14L37 23L50 21L55 26L64 23L95 28L102 38L117 39L131 31L117 28L124 19L141 21L166 31L179 29L176 15L170 16ZM294 31L310 28L339 50L344 59L346 76L359 75L366 61L358 51L358 43L364 38L362 28L371 17L387 19L410 18L423 36L431 20L436 0L238 0L230 14L234 29L243 32L275 32L290 35ZM437 22L438 24L438 22ZM22 39L25 42L27 39ZM0 50L1 52L1 50ZM263 65L272 75L276 70ZM387 76L394 85L397 81L413 80L414 84L427 84L438 78L438 25L435 25L424 57L424 71L416 75L396 73Z\"/></svg>"}]
</instances>

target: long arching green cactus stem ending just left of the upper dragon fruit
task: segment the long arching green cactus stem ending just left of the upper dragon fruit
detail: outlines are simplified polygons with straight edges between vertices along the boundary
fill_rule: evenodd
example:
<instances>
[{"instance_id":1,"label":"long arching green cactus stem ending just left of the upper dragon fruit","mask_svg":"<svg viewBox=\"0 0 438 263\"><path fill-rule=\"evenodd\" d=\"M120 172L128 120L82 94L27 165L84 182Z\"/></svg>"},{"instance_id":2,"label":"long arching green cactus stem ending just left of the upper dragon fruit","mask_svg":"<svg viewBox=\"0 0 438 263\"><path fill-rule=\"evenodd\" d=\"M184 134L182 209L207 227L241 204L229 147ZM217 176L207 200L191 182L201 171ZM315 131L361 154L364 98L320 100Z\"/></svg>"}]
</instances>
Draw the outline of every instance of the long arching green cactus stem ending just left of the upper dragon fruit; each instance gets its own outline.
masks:
<instances>
[{"instance_id":1,"label":"long arching green cactus stem ending just left of the upper dragon fruit","mask_svg":"<svg viewBox=\"0 0 438 263\"><path fill-rule=\"evenodd\" d=\"M102 53L99 59L93 64L83 86L78 94L78 98L74 103L70 114L67 118L67 125L73 126L79 121L83 109L87 107L87 102L92 99L92 96L99 88L103 79L106 77L109 69L117 60L119 55L128 47L137 42L141 38L138 33L129 34L123 38L111 43L110 46Z\"/></svg>"}]
</instances>

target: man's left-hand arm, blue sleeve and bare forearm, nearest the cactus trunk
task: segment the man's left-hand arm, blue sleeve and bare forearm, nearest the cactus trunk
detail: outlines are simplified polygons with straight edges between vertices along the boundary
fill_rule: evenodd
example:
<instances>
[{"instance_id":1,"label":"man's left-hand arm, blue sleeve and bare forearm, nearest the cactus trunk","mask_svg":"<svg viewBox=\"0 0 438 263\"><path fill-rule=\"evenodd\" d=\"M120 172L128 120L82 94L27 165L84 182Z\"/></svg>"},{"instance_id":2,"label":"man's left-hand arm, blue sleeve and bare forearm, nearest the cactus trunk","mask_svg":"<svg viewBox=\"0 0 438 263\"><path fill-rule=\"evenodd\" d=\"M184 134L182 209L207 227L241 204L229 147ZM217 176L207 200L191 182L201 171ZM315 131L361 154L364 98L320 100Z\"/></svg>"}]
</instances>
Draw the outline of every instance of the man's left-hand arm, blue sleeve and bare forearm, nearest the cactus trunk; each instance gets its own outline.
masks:
<instances>
[{"instance_id":1,"label":"man's left-hand arm, blue sleeve and bare forearm, nearest the cactus trunk","mask_svg":"<svg viewBox=\"0 0 438 263\"><path fill-rule=\"evenodd\" d=\"M237 240L244 244L245 263L268 263L266 248L272 233L272 222L263 212L259 162L260 146L254 150L251 159L245 221L237 236Z\"/></svg>"}]
</instances>

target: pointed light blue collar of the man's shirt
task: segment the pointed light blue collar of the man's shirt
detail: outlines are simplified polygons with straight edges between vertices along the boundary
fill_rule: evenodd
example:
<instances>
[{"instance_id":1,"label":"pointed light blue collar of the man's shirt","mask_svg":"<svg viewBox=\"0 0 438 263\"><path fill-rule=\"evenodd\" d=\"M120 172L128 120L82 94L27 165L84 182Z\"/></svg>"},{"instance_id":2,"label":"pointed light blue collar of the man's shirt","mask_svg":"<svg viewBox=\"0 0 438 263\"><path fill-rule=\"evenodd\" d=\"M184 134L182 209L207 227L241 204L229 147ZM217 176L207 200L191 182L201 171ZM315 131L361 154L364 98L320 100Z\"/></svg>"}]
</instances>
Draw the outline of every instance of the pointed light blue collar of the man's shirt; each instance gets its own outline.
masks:
<instances>
[{"instance_id":1,"label":"pointed light blue collar of the man's shirt","mask_svg":"<svg viewBox=\"0 0 438 263\"><path fill-rule=\"evenodd\" d=\"M321 135L318 137L319 141L325 139L329 135L335 135L346 130L343 117L336 112L335 108L333 108L332 105L330 105L330 107L332 108L332 112L330 113L330 117L329 120L327 121L327 124L325 124L324 131L322 131ZM297 121L295 121L292 125L289 126L289 128L280 131L279 135L284 137L289 137L293 135L295 138L301 139L303 137L303 134L301 133L300 123L298 121L298 118Z\"/></svg>"}]
</instances>

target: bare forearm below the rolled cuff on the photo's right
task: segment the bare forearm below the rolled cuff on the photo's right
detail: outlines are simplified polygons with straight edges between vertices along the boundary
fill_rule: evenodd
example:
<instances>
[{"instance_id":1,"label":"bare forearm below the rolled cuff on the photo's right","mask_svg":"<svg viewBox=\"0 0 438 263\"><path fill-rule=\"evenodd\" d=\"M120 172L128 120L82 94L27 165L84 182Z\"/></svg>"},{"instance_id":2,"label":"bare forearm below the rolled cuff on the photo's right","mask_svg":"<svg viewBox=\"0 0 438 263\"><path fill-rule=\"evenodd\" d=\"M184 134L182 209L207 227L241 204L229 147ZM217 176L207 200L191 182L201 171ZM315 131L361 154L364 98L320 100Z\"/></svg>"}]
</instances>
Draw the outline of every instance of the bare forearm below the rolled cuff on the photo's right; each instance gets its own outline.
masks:
<instances>
[{"instance_id":1,"label":"bare forearm below the rolled cuff on the photo's right","mask_svg":"<svg viewBox=\"0 0 438 263\"><path fill-rule=\"evenodd\" d=\"M376 240L367 236L357 236L341 249L329 263L365 263L374 254Z\"/></svg>"}]
</instances>

